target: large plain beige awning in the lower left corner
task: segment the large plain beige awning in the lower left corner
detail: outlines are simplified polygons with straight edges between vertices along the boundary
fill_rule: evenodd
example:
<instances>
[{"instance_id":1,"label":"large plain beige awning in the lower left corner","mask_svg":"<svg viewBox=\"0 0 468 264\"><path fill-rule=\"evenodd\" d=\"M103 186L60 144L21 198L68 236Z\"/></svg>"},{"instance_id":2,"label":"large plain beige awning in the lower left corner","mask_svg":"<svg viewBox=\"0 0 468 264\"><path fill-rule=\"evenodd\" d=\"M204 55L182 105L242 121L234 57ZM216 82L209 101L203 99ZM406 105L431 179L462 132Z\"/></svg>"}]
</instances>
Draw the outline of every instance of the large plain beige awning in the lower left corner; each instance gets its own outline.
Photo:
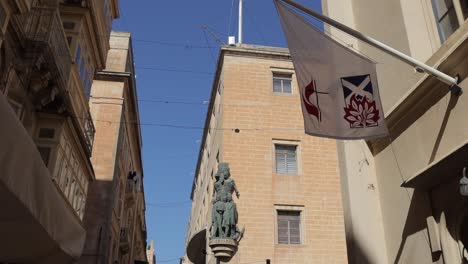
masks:
<instances>
[{"instance_id":1,"label":"large plain beige awning in the lower left corner","mask_svg":"<svg viewBox=\"0 0 468 264\"><path fill-rule=\"evenodd\" d=\"M66 264L86 232L0 93L0 262Z\"/></svg>"}]
</instances>

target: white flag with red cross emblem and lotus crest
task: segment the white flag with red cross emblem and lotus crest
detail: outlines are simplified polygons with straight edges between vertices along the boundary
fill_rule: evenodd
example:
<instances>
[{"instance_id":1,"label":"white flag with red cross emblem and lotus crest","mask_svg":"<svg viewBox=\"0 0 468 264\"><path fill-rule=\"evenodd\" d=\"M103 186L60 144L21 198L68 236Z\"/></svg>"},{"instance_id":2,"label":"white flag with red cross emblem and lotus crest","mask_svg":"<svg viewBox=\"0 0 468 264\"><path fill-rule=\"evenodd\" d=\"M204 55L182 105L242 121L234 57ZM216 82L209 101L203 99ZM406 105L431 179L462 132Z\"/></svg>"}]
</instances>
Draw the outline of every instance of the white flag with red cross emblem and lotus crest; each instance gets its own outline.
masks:
<instances>
[{"instance_id":1,"label":"white flag with red cross emblem and lotus crest","mask_svg":"<svg viewBox=\"0 0 468 264\"><path fill-rule=\"evenodd\" d=\"M375 64L275 0L301 93L305 133L336 139L388 134Z\"/></svg>"}]
</instances>

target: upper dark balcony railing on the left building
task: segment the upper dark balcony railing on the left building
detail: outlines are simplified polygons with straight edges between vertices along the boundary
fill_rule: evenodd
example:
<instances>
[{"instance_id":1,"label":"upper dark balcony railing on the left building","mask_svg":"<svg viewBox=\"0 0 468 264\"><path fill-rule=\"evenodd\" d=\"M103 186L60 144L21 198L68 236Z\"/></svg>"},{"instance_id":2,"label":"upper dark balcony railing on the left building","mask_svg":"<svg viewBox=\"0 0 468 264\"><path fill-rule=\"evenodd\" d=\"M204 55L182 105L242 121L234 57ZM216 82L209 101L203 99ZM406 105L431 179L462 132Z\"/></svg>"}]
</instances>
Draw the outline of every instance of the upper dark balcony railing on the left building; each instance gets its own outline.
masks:
<instances>
[{"instance_id":1,"label":"upper dark balcony railing on the left building","mask_svg":"<svg viewBox=\"0 0 468 264\"><path fill-rule=\"evenodd\" d=\"M59 87L67 89L71 58L58 9L33 8L25 15L24 30L28 53L42 53Z\"/></svg>"}]
</instances>

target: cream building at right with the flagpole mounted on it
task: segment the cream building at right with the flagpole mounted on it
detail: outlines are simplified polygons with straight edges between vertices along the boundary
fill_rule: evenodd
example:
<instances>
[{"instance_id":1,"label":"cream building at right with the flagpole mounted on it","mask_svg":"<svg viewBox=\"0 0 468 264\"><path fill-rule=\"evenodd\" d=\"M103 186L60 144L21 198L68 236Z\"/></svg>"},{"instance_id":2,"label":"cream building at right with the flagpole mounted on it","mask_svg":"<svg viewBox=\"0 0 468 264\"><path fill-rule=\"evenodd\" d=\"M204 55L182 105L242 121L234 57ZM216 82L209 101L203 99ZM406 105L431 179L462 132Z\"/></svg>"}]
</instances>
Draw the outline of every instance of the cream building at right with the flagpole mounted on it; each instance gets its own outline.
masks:
<instances>
[{"instance_id":1,"label":"cream building at right with the flagpole mounted on it","mask_svg":"<svg viewBox=\"0 0 468 264\"><path fill-rule=\"evenodd\" d=\"M466 263L468 3L324 0L346 25L459 76L463 94L329 28L377 62L390 136L338 142L349 263Z\"/></svg>"}]
</instances>

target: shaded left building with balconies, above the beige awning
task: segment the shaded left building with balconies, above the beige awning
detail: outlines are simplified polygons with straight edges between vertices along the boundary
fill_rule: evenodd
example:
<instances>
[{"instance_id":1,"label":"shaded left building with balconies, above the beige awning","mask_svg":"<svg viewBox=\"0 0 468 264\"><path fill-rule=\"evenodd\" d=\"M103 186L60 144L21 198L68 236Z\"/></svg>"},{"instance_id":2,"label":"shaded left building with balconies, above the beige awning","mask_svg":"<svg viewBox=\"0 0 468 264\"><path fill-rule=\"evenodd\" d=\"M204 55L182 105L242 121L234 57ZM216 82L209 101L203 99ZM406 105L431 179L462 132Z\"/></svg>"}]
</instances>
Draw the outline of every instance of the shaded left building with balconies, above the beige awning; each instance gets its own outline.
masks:
<instances>
[{"instance_id":1,"label":"shaded left building with balconies, above the beige awning","mask_svg":"<svg viewBox=\"0 0 468 264\"><path fill-rule=\"evenodd\" d=\"M88 105L89 90L94 73L105 66L109 33L112 20L119 16L118 9L117 0L0 1L0 92L17 117L14 122L23 126L24 131L18 131L18 135L28 135L29 138L23 142L33 142L37 148L31 150L30 159L25 157L25 166L39 155L43 164L34 166L46 166L49 174L43 178L36 176L35 180L43 180L43 185L27 186L31 181L25 180L18 185L10 185L9 190L13 193L13 187L24 186L27 187L26 192L44 195L40 199L35 197L34 201L24 199L32 194L17 195L23 205L29 206L28 213L34 219L25 221L37 220L42 225L42 231L48 233L44 237L63 236L62 240L55 239L58 245L55 247L60 250L54 250L63 251L64 255L73 259L81 254L83 239L75 237L76 244L72 243L73 246L62 245L72 237L53 229L68 224L69 230L84 231L83 217L88 189L95 180L90 160L95 126ZM14 126L2 121L2 128L6 127ZM10 154L13 156L14 153ZM10 160L10 163L14 163L14 160ZM36 168L38 173L42 171L39 167ZM2 174L3 177L8 176L6 172ZM7 182L7 185L11 183ZM49 193L58 201L50 201L48 199L51 197L45 197L47 193L41 194L44 190L36 190L40 186L46 188L49 185L55 187ZM48 210L51 210L50 214ZM73 223L65 221L64 215L69 214L74 217ZM64 222L54 223L51 220L54 217ZM17 235L17 238L21 236ZM63 258L48 259L54 255L50 253L52 251L31 249L34 253L30 256L24 244L18 245L23 252L16 256L14 240L2 233L2 241L10 246L5 248L5 252L0 252L0 262L35 260L68 263ZM30 238L22 239L23 243L25 240ZM41 244L41 241L36 241L36 244Z\"/></svg>"}]
</instances>

